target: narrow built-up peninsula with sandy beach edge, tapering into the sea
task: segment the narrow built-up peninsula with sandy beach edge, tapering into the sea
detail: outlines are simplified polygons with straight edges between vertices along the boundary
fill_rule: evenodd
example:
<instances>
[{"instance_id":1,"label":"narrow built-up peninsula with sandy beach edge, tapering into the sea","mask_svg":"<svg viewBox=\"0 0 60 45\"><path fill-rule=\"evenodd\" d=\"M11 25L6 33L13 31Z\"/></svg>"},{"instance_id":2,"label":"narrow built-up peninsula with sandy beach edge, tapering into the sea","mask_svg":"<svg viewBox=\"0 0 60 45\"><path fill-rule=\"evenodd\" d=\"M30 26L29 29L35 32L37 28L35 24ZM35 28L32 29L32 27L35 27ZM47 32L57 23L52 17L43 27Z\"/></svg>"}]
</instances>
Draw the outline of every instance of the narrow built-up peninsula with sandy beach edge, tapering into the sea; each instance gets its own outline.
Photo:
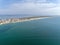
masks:
<instances>
[{"instance_id":1,"label":"narrow built-up peninsula with sandy beach edge, tapering into the sea","mask_svg":"<svg viewBox=\"0 0 60 45\"><path fill-rule=\"evenodd\" d=\"M34 17L25 17L25 18L0 19L0 25L7 24L7 23L16 23L16 22L44 19L44 18L49 18L49 17L51 16L34 16Z\"/></svg>"}]
</instances>

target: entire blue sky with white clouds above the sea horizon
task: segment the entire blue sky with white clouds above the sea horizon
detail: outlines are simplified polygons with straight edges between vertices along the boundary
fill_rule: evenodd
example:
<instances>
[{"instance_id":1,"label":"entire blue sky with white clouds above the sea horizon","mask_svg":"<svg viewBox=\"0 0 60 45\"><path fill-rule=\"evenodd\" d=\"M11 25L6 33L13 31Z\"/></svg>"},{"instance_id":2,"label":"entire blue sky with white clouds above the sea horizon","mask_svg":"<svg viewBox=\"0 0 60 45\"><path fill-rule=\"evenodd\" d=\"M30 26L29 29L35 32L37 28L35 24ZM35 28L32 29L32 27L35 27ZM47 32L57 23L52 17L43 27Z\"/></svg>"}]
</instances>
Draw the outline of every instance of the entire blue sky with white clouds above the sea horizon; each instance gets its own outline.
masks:
<instances>
[{"instance_id":1,"label":"entire blue sky with white clouds above the sea horizon","mask_svg":"<svg viewBox=\"0 0 60 45\"><path fill-rule=\"evenodd\" d=\"M60 0L0 0L0 15L60 15Z\"/></svg>"}]
</instances>

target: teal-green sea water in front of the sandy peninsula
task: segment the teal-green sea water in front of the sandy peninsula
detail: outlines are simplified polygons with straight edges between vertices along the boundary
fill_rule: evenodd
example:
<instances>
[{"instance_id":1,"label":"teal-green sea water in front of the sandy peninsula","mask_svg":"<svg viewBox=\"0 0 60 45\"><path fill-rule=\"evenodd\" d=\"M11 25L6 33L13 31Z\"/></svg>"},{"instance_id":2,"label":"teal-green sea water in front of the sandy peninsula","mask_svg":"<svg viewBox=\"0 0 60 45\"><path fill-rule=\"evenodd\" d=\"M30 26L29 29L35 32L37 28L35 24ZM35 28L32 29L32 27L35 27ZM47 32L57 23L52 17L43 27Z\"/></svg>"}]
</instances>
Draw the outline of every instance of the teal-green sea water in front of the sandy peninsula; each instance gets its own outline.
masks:
<instances>
[{"instance_id":1,"label":"teal-green sea water in front of the sandy peninsula","mask_svg":"<svg viewBox=\"0 0 60 45\"><path fill-rule=\"evenodd\" d=\"M60 17L0 25L0 45L60 45Z\"/></svg>"}]
</instances>

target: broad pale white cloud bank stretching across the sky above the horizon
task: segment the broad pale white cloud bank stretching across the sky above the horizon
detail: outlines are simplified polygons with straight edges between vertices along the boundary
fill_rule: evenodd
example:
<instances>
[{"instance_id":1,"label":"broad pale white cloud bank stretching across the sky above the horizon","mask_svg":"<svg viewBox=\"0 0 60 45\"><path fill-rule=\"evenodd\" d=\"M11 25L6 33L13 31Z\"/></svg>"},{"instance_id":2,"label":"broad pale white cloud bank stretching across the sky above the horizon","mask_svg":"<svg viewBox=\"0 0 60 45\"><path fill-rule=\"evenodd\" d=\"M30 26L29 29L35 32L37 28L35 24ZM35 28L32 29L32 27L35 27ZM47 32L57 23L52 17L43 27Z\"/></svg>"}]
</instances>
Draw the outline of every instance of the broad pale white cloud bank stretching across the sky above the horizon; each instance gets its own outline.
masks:
<instances>
[{"instance_id":1,"label":"broad pale white cloud bank stretching across the sky above the horizon","mask_svg":"<svg viewBox=\"0 0 60 45\"><path fill-rule=\"evenodd\" d=\"M60 15L60 6L47 0L25 0L0 9L0 14Z\"/></svg>"}]
</instances>

